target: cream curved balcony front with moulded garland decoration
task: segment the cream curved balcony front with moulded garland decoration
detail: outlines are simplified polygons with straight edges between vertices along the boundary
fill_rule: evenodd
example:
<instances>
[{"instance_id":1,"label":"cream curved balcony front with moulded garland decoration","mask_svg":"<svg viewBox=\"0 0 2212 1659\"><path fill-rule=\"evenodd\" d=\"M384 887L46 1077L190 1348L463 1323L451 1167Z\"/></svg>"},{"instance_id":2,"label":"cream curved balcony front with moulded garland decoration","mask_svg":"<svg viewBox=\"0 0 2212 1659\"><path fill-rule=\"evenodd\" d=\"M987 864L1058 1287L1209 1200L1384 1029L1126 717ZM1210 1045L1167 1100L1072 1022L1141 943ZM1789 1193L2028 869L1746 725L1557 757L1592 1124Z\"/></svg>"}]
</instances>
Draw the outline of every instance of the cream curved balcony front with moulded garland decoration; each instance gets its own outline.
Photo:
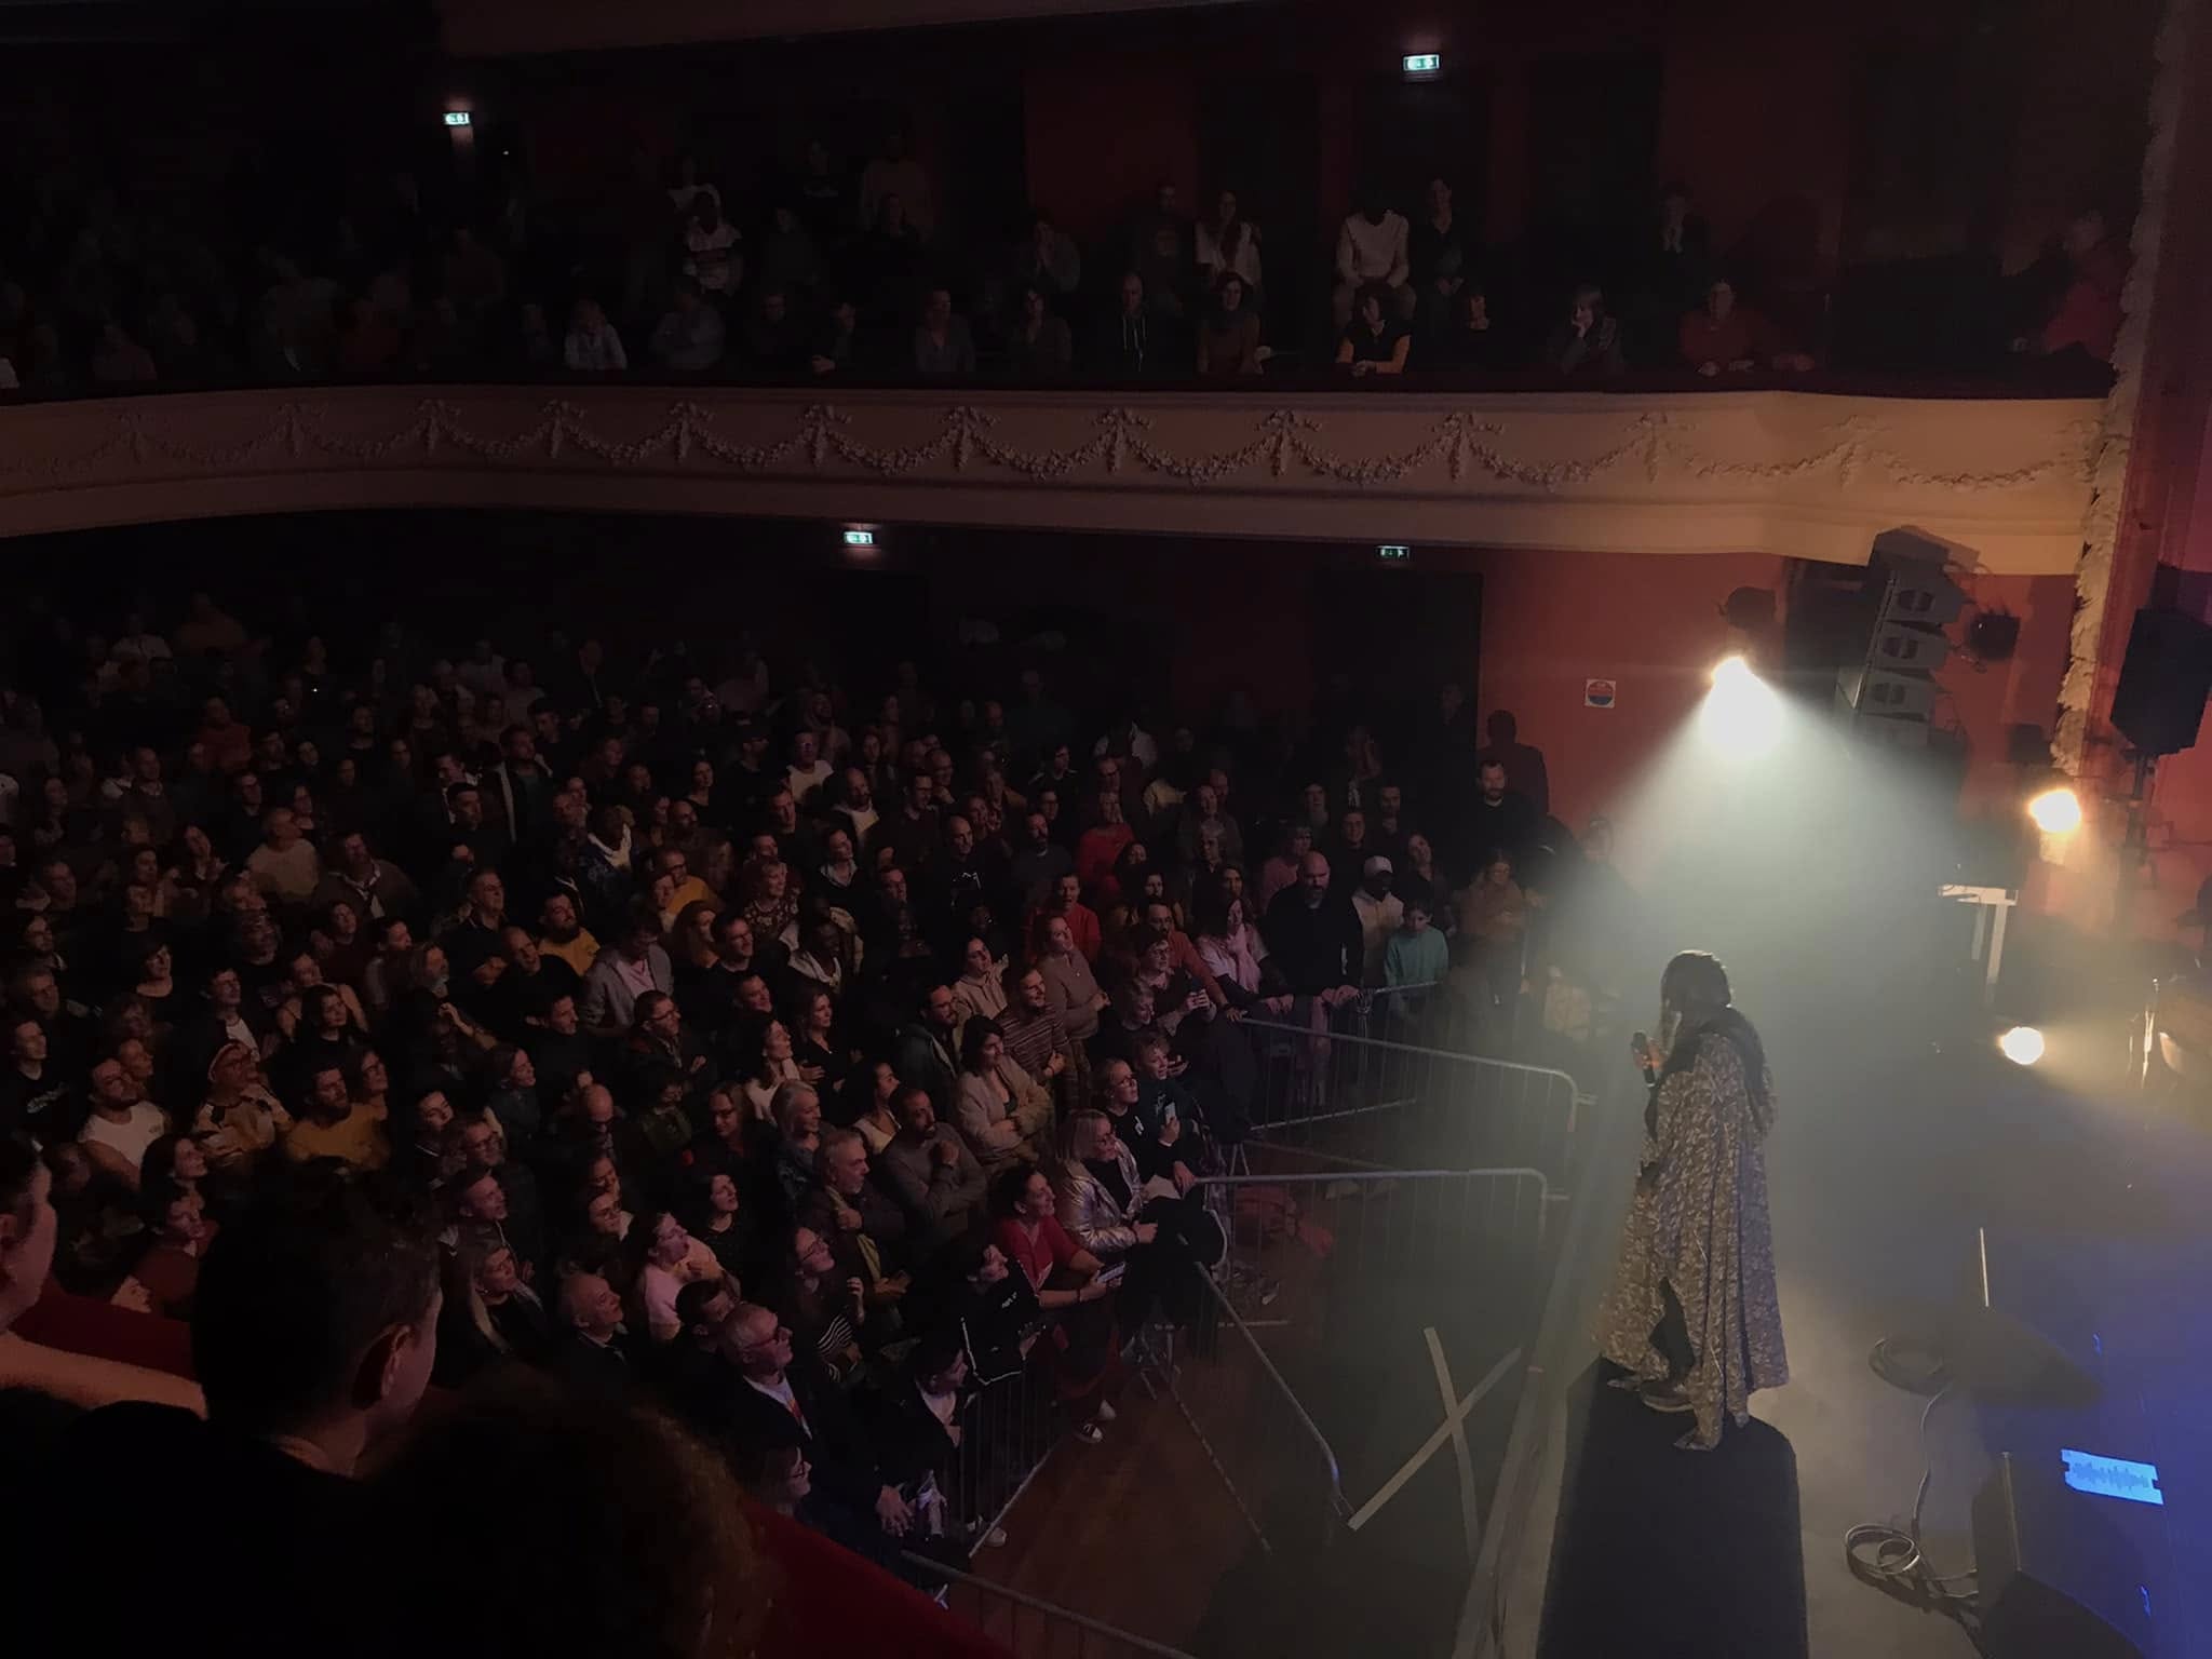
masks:
<instances>
[{"instance_id":1,"label":"cream curved balcony front with moulded garland decoration","mask_svg":"<svg viewBox=\"0 0 2212 1659\"><path fill-rule=\"evenodd\" d=\"M0 407L0 533L551 507L1858 564L1902 524L2059 575L2099 411L1851 383L161 392Z\"/></svg>"}]
</instances>

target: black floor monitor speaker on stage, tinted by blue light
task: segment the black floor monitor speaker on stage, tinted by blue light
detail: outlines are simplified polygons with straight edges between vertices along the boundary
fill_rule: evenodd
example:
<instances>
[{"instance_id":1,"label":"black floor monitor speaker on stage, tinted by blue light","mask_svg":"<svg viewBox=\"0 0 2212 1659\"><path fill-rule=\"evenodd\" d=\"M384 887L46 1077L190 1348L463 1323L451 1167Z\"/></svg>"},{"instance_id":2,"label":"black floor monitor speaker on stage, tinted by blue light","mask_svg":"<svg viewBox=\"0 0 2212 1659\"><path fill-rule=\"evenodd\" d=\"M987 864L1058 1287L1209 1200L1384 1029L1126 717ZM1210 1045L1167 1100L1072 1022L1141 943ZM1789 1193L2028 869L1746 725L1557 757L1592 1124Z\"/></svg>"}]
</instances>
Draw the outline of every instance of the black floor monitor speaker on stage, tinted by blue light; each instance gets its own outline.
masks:
<instances>
[{"instance_id":1,"label":"black floor monitor speaker on stage, tinted by blue light","mask_svg":"<svg viewBox=\"0 0 2212 1659\"><path fill-rule=\"evenodd\" d=\"M2141 1557L2057 1469L2002 1453L1973 1500L1989 1659L2143 1659Z\"/></svg>"}]
</instances>

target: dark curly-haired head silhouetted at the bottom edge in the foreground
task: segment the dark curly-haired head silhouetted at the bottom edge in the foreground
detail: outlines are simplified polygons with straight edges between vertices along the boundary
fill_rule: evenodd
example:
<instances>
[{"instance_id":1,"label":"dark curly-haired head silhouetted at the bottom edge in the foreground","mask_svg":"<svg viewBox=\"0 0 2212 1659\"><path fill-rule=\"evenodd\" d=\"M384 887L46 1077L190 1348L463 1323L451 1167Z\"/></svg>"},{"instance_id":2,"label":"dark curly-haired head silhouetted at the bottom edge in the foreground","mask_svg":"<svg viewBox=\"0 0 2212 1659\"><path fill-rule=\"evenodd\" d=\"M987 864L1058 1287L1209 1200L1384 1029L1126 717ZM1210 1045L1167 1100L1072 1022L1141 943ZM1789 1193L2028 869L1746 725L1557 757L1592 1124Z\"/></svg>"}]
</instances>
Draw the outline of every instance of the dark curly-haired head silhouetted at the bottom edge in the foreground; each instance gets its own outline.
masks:
<instances>
[{"instance_id":1,"label":"dark curly-haired head silhouetted at the bottom edge in the foreground","mask_svg":"<svg viewBox=\"0 0 2212 1659\"><path fill-rule=\"evenodd\" d=\"M409 1436L369 1482L407 1568L354 1608L398 1652L754 1652L772 1588L737 1484L668 1418L502 1376ZM518 1517L546 1526L518 1526Z\"/></svg>"}]
</instances>

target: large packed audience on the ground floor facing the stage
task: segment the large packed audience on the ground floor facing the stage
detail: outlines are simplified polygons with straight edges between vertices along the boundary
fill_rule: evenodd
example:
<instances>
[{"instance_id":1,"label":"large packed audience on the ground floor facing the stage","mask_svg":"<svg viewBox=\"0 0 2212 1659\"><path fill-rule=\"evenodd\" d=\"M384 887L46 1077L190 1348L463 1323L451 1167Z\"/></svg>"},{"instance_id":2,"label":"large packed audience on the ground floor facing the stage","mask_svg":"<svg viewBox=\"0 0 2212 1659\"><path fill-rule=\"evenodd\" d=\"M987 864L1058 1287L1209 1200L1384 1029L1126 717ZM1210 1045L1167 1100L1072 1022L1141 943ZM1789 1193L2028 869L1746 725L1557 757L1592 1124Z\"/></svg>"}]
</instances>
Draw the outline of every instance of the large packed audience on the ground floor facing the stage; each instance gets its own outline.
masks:
<instances>
[{"instance_id":1,"label":"large packed audience on the ground floor facing the stage","mask_svg":"<svg viewBox=\"0 0 2212 1659\"><path fill-rule=\"evenodd\" d=\"M1604 995L1604 825L1577 845L1455 686L1387 752L1347 712L1276 743L1079 714L1037 666L531 661L137 604L20 613L7 653L0 1248L29 1296L44 1232L62 1290L188 1321L210 1425L259 1449L100 1411L80 1491L164 1469L354 1528L327 1475L482 1383L549 1431L668 1413L708 1451L633 1416L593 1444L677 1509L734 1478L887 1566L964 1562L1011 1455L962 1447L978 1389L1110 1438L1221 1254L1197 1183L1270 1044L1409 987L1559 1057ZM434 1480L396 1455L394 1491Z\"/></svg>"}]
</instances>

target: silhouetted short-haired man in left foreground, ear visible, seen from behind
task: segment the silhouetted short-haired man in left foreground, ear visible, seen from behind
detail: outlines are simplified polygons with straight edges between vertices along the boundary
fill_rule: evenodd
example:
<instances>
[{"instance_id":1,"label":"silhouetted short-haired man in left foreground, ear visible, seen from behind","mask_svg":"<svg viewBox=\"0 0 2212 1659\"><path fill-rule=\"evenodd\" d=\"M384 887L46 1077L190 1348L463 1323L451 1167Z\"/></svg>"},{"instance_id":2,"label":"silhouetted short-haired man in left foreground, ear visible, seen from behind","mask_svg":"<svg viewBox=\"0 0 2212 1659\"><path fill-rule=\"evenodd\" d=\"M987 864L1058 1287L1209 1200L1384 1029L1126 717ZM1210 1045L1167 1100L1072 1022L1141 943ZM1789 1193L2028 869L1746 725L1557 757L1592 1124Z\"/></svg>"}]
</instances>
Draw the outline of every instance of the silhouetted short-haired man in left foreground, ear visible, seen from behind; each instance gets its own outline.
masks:
<instances>
[{"instance_id":1,"label":"silhouetted short-haired man in left foreground, ear visible, seen from behind","mask_svg":"<svg viewBox=\"0 0 2212 1659\"><path fill-rule=\"evenodd\" d=\"M376 1559L354 1473L414 1416L438 1307L425 1230L345 1183L294 1179L232 1217L192 1301L208 1420L117 1405L66 1429L55 1464L66 1478L44 1486L51 1526L31 1559L11 1562L42 1586L7 1595L11 1641L24 1652L175 1646L177 1608L206 1595L219 1559L257 1564L252 1595L223 1608L223 1652L352 1650L363 1606L332 1595L332 1564ZM195 1493L190 1551L173 1548L173 1517L117 1504L148 1469ZM95 1535L135 1562L128 1595L106 1548L84 1548Z\"/></svg>"}]
</instances>

